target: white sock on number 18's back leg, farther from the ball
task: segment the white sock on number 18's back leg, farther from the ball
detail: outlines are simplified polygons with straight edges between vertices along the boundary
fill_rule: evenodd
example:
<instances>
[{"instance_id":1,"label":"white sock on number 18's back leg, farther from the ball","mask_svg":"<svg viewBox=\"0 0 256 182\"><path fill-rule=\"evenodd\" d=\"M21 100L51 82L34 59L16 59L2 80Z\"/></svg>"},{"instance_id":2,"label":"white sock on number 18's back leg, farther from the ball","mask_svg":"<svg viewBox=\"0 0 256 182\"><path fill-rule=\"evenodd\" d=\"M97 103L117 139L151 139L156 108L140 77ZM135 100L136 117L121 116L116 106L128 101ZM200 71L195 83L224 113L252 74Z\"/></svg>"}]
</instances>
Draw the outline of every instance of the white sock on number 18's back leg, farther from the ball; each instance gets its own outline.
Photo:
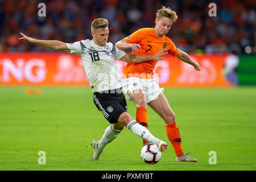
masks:
<instances>
[{"instance_id":1,"label":"white sock on number 18's back leg, farther from the ball","mask_svg":"<svg viewBox=\"0 0 256 182\"><path fill-rule=\"evenodd\" d=\"M118 137L122 130L114 130L112 125L106 128L104 135L102 136L100 143L98 143L98 149L103 150L106 144L112 142Z\"/></svg>"}]
</instances>

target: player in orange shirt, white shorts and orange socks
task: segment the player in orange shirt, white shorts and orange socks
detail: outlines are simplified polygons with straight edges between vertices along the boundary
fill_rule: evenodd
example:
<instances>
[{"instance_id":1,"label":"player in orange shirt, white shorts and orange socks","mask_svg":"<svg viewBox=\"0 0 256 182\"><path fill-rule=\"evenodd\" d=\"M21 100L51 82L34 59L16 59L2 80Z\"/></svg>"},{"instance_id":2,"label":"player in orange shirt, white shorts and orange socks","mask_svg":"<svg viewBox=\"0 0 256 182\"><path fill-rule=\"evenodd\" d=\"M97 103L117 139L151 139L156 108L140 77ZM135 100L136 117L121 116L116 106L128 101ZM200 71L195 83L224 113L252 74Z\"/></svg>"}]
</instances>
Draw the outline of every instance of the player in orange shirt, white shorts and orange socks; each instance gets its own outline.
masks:
<instances>
[{"instance_id":1,"label":"player in orange shirt, white shorts and orange socks","mask_svg":"<svg viewBox=\"0 0 256 182\"><path fill-rule=\"evenodd\" d=\"M119 40L115 46L121 50L131 48L133 49L132 54L135 55L153 55L160 49L166 48L166 51L172 56L177 56L200 71L199 64L193 61L187 53L176 48L172 40L165 36L176 19L175 11L162 6L162 9L156 13L155 28L141 28L130 36ZM123 91L126 98L132 100L137 106L136 120L142 126L148 128L147 104L163 118L166 123L167 137L175 150L175 161L197 162L196 159L189 158L188 154L184 154L174 111L163 94L163 88L159 88L152 78L156 63L157 61L154 60L143 63L127 63L122 80ZM146 143L147 140L143 139L143 144Z\"/></svg>"}]
</instances>

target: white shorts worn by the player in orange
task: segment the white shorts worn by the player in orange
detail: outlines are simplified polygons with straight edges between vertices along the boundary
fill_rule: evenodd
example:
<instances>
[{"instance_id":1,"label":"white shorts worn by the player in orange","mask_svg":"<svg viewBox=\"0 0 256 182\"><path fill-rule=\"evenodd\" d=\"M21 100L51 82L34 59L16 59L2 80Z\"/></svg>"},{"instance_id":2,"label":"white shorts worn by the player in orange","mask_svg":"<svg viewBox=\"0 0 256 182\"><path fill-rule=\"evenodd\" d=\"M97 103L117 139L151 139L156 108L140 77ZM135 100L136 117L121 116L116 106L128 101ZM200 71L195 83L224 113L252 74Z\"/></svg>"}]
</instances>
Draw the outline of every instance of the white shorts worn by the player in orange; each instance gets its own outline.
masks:
<instances>
[{"instance_id":1,"label":"white shorts worn by the player in orange","mask_svg":"<svg viewBox=\"0 0 256 182\"><path fill-rule=\"evenodd\" d=\"M143 79L137 77L123 78L122 88L126 99L131 101L129 93L136 89L142 89L146 94L147 103L156 99L164 88L160 88L153 79Z\"/></svg>"}]
</instances>

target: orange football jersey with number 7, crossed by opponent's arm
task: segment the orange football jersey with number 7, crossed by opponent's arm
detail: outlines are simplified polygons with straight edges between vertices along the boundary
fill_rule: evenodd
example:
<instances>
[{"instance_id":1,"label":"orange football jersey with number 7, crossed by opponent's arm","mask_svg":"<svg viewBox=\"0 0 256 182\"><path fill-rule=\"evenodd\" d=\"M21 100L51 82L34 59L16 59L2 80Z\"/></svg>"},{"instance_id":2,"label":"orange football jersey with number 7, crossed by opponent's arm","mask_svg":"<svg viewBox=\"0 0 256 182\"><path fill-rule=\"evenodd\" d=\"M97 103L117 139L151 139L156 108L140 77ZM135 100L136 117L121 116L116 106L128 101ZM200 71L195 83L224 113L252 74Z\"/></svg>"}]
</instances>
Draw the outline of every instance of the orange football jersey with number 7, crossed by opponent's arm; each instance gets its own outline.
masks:
<instances>
[{"instance_id":1,"label":"orange football jersey with number 7, crossed by opponent's arm","mask_svg":"<svg viewBox=\"0 0 256 182\"><path fill-rule=\"evenodd\" d=\"M124 38L127 43L136 43L141 45L138 52L131 52L134 55L154 55L161 49L166 48L166 51L172 56L177 56L180 53L180 49L176 48L175 44L167 36L163 36L161 39L154 32L154 28L141 28L135 31L130 36ZM145 61L142 63L127 63L125 76L128 77L141 77L139 75L147 75L143 78L152 78L155 65L158 61ZM136 73L136 74L135 74ZM144 74L143 74L144 73Z\"/></svg>"}]
</instances>

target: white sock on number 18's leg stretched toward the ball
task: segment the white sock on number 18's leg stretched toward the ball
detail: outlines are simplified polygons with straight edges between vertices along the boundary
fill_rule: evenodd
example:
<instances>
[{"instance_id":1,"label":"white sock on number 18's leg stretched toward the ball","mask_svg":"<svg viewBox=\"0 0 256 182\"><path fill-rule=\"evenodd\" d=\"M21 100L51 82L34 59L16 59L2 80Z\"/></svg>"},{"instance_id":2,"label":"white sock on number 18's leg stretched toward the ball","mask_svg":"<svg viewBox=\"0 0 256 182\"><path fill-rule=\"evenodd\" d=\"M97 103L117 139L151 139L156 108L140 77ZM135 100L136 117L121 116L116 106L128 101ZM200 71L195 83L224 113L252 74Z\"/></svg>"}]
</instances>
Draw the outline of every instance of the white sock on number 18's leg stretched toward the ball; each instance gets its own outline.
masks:
<instances>
[{"instance_id":1,"label":"white sock on number 18's leg stretched toward the ball","mask_svg":"<svg viewBox=\"0 0 256 182\"><path fill-rule=\"evenodd\" d=\"M156 144L156 142L159 140L158 138L155 138L150 131L146 129L146 127L139 125L137 121L131 121L127 125L127 129L133 132L138 137L141 137L145 140L148 140L148 142Z\"/></svg>"}]
</instances>

